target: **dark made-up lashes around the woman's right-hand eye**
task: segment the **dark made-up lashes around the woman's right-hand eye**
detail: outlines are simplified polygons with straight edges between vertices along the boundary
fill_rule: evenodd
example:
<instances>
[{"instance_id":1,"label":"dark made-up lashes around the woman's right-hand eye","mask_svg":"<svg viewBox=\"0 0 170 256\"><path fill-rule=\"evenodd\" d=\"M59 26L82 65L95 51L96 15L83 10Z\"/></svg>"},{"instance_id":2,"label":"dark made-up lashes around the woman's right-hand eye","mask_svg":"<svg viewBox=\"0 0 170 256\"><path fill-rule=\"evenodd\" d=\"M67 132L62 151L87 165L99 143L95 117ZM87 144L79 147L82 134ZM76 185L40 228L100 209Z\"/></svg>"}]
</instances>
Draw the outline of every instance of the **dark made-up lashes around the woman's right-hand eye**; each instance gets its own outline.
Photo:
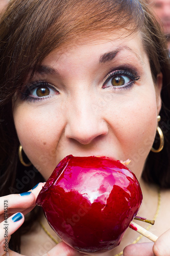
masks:
<instances>
[{"instance_id":1,"label":"dark made-up lashes around the woman's right-hand eye","mask_svg":"<svg viewBox=\"0 0 170 256\"><path fill-rule=\"evenodd\" d=\"M113 89L113 90L130 89L134 85L135 81L140 79L140 76L138 76L136 72L134 73L133 71L131 71L131 70L127 69L127 68L124 68L124 69L121 69L121 70L114 70L114 71L110 72L107 75L107 77L106 77L106 79L105 79L105 81L103 83L104 89L108 88L108 87L105 87L105 84L107 82L109 82L109 80L111 78L114 78L116 76L117 77L119 77L119 76L127 76L128 78L131 79L131 81L128 82L127 84L124 84L123 86L116 86L116 87L114 87L112 85L111 89Z\"/></svg>"}]
</instances>

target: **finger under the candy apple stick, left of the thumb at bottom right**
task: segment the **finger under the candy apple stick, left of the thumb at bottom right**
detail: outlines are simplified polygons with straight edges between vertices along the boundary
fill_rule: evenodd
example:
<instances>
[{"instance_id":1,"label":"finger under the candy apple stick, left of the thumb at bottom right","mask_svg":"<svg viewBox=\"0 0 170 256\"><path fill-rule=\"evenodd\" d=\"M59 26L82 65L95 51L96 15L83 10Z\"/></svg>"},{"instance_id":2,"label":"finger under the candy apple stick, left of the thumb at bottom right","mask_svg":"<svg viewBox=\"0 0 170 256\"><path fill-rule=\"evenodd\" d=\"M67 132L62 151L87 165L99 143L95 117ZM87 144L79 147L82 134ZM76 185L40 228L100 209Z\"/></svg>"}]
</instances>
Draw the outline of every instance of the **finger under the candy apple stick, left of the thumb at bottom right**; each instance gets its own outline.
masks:
<instances>
[{"instance_id":1,"label":"finger under the candy apple stick, left of the thumb at bottom right","mask_svg":"<svg viewBox=\"0 0 170 256\"><path fill-rule=\"evenodd\" d=\"M125 247L124 256L154 256L154 243L131 244Z\"/></svg>"}]
</instances>

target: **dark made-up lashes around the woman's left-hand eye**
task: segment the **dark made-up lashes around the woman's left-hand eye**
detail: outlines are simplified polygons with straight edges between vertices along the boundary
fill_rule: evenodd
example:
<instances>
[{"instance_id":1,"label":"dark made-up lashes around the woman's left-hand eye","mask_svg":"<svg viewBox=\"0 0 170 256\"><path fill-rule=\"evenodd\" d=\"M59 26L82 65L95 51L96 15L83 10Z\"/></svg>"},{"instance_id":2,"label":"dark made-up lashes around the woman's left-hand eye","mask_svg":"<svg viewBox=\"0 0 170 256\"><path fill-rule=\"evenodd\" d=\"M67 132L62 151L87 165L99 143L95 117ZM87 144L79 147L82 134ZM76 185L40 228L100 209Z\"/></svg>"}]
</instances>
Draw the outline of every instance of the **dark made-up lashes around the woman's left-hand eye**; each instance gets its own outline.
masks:
<instances>
[{"instance_id":1,"label":"dark made-up lashes around the woman's left-hand eye","mask_svg":"<svg viewBox=\"0 0 170 256\"><path fill-rule=\"evenodd\" d=\"M29 96L30 95L30 92L33 91L34 89L38 89L38 88L41 88L41 87L46 87L46 88L49 88L49 89L52 89L54 90L55 92L58 92L50 83L46 82L46 81L35 81L35 82L32 82L31 83L31 86L27 86L27 89L25 90L25 92L21 92L21 100L25 101L42 101L44 99L47 99L47 98L51 98L53 97L53 95L49 95L49 96L44 96L44 97L32 97L32 96Z\"/></svg>"}]
</instances>

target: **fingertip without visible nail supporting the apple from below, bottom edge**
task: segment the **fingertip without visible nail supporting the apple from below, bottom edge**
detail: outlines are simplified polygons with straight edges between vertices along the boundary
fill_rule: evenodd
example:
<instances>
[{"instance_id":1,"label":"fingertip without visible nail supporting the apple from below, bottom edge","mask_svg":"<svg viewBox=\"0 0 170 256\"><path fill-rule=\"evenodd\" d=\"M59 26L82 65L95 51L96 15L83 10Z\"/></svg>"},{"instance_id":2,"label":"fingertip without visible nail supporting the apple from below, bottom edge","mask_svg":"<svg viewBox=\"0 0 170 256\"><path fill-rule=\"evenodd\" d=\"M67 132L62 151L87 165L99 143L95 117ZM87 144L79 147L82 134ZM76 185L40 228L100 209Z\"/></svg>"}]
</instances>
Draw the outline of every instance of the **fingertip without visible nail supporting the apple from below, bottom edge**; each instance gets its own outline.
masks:
<instances>
[{"instance_id":1,"label":"fingertip without visible nail supporting the apple from below, bottom edge","mask_svg":"<svg viewBox=\"0 0 170 256\"><path fill-rule=\"evenodd\" d=\"M87 256L87 254L80 253L72 249L70 246L68 246L64 242L60 242L53 249L43 254L43 256L83 256L83 255Z\"/></svg>"}]
</instances>

